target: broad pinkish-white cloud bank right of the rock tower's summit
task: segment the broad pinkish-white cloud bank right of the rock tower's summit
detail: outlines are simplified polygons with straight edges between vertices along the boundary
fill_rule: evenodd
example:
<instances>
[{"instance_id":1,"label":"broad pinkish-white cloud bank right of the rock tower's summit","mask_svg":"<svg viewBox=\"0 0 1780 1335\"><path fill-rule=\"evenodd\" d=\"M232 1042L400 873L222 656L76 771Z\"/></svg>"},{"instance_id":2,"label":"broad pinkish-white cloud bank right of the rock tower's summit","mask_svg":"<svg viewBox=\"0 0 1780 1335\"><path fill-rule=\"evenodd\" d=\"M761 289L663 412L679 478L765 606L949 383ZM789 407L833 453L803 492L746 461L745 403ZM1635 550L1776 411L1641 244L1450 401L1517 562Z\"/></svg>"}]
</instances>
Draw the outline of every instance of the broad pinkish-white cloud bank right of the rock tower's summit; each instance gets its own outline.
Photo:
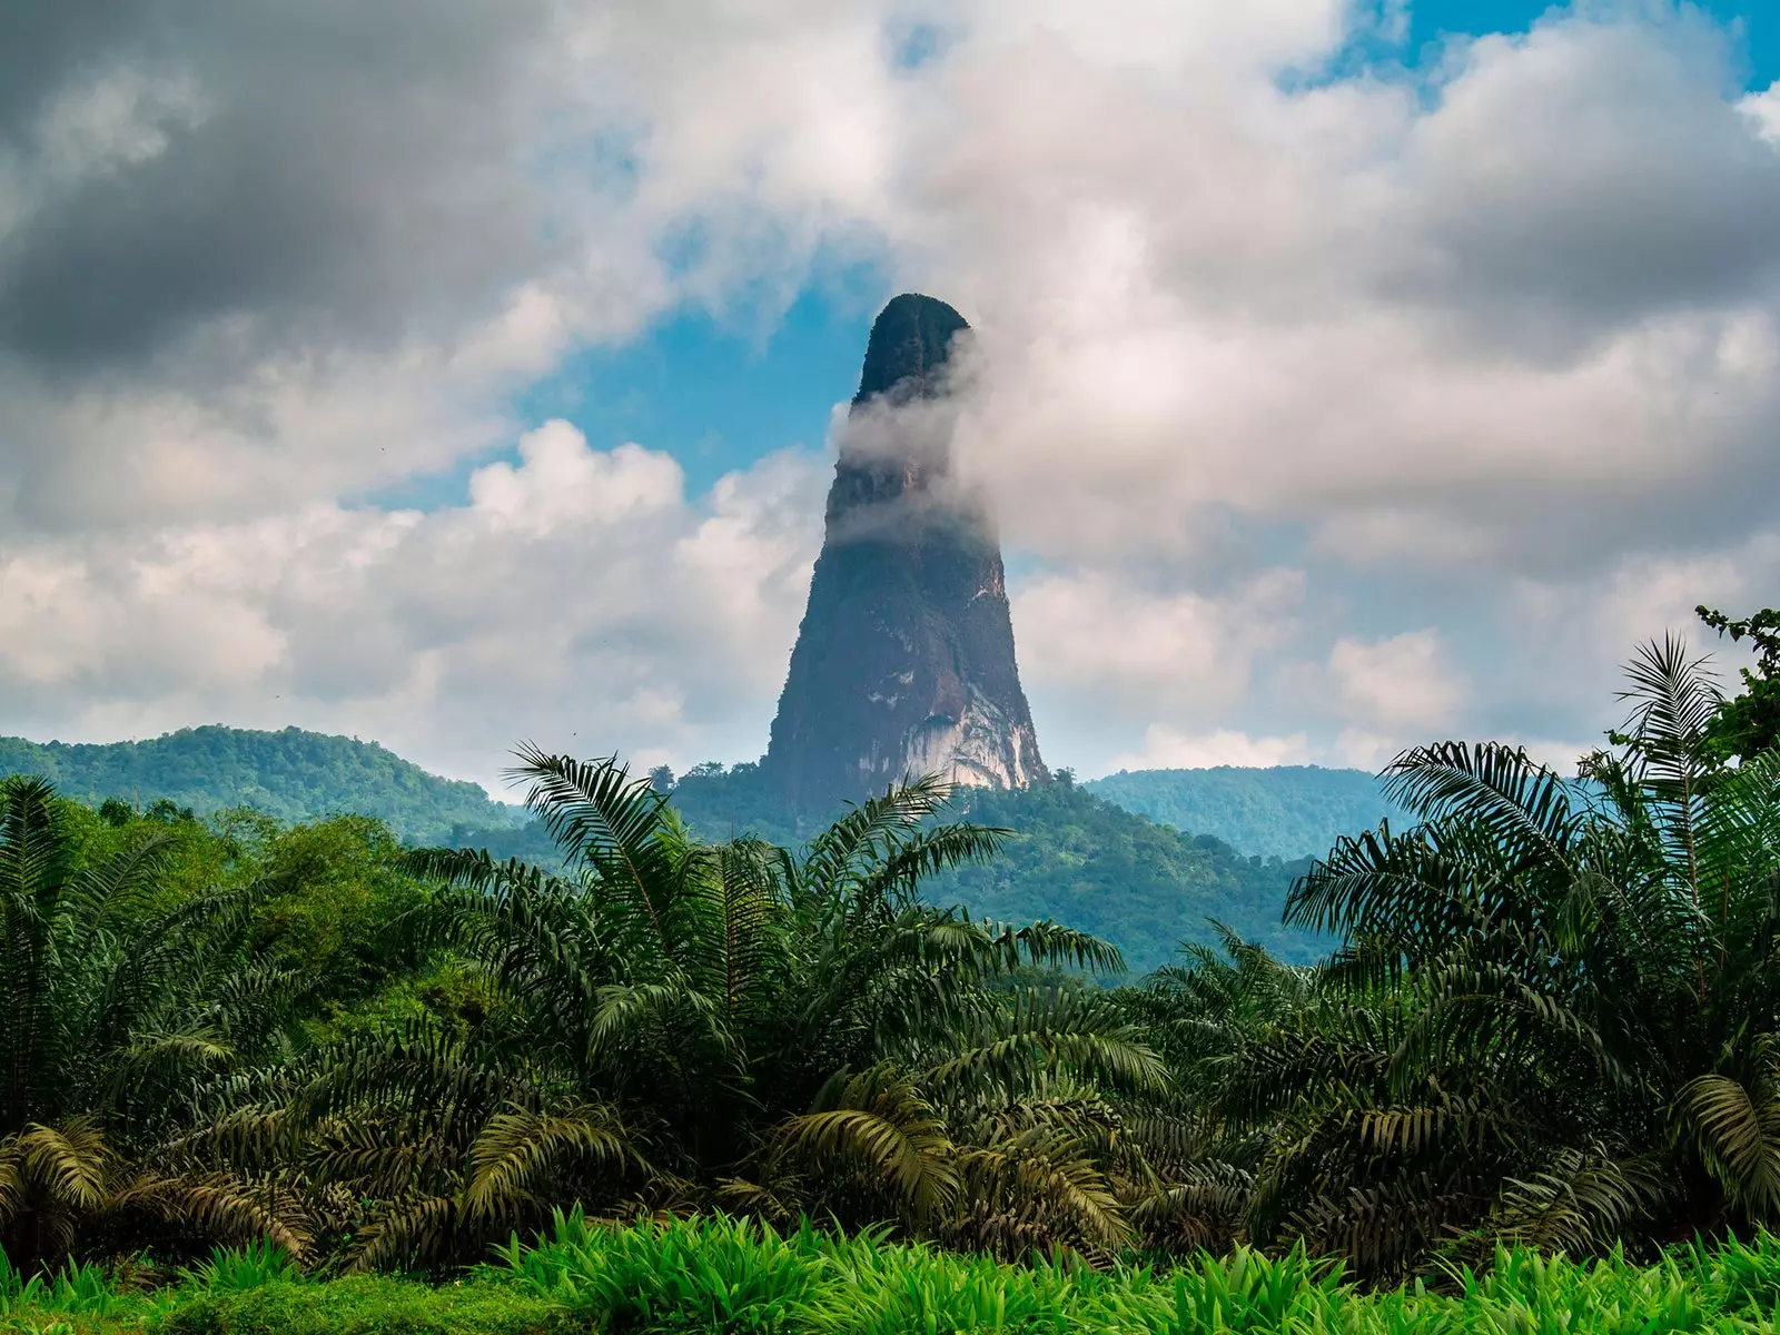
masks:
<instances>
[{"instance_id":1,"label":"broad pinkish-white cloud bank right of the rock tower's summit","mask_svg":"<svg viewBox=\"0 0 1780 1335\"><path fill-rule=\"evenodd\" d=\"M959 66L1011 94L970 139L1016 151L977 144L936 199L934 267L986 312L961 445L1015 541L1153 557L1230 506L1330 555L1524 570L1611 559L1625 518L1760 520L1780 153L1689 23L1477 41L1428 107L1378 82L1184 107L1045 59ZM1075 105L1018 132L1052 89Z\"/></svg>"}]
</instances>

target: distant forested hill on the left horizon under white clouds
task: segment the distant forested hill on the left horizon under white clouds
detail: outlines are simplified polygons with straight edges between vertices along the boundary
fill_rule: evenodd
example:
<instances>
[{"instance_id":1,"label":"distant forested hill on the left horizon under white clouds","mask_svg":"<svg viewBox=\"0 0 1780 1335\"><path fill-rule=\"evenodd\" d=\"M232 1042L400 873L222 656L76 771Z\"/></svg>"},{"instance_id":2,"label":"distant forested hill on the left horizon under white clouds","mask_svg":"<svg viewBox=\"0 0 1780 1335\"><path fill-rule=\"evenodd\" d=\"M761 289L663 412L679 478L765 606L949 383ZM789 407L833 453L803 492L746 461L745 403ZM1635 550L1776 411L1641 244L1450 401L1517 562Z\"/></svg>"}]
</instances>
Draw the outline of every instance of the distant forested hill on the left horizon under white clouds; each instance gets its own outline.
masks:
<instances>
[{"instance_id":1,"label":"distant forested hill on the left horizon under white clouds","mask_svg":"<svg viewBox=\"0 0 1780 1335\"><path fill-rule=\"evenodd\" d=\"M167 799L199 815L253 806L279 821L360 812L402 838L449 840L454 828L500 828L514 808L475 783L438 778L376 742L301 728L182 728L146 742L27 742L0 737L0 774L43 774L87 803Z\"/></svg>"}]
</instances>

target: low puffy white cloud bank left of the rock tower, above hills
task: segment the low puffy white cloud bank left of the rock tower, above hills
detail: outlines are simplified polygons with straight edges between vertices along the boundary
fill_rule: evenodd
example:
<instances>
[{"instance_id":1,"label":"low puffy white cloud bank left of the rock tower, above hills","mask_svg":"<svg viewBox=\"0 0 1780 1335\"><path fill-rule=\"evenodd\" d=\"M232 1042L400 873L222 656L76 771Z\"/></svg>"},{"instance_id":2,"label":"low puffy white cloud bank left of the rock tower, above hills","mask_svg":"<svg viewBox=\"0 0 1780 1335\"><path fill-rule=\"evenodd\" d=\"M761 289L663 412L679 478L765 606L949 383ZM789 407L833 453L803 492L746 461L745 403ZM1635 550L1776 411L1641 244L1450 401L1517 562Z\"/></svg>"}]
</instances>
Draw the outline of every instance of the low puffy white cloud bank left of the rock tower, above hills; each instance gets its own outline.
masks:
<instances>
[{"instance_id":1,"label":"low puffy white cloud bank left of the rock tower, above hills","mask_svg":"<svg viewBox=\"0 0 1780 1335\"><path fill-rule=\"evenodd\" d=\"M817 461L687 500L671 457L564 422L520 456L427 514L322 504L0 557L0 692L37 735L295 721L484 783L523 737L680 765L746 746L732 719L771 708L803 611Z\"/></svg>"}]
</instances>

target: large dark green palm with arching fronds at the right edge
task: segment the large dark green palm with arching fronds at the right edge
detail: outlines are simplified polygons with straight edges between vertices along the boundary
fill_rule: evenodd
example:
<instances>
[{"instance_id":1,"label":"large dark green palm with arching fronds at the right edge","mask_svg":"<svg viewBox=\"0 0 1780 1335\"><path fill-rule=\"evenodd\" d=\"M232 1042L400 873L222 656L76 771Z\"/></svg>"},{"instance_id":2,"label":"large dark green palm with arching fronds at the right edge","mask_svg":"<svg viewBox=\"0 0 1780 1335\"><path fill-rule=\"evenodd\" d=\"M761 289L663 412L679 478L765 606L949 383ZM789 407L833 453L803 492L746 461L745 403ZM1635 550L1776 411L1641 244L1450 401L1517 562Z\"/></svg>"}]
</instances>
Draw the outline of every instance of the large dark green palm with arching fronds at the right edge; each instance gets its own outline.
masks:
<instances>
[{"instance_id":1,"label":"large dark green palm with arching fronds at the right edge","mask_svg":"<svg viewBox=\"0 0 1780 1335\"><path fill-rule=\"evenodd\" d=\"M1250 1207L1374 1273L1472 1235L1590 1248L1780 1221L1780 764L1725 771L1716 687L1643 648L1582 783L1517 748L1390 765L1420 817L1342 840L1287 920L1346 949L1244 1043Z\"/></svg>"}]
</instances>

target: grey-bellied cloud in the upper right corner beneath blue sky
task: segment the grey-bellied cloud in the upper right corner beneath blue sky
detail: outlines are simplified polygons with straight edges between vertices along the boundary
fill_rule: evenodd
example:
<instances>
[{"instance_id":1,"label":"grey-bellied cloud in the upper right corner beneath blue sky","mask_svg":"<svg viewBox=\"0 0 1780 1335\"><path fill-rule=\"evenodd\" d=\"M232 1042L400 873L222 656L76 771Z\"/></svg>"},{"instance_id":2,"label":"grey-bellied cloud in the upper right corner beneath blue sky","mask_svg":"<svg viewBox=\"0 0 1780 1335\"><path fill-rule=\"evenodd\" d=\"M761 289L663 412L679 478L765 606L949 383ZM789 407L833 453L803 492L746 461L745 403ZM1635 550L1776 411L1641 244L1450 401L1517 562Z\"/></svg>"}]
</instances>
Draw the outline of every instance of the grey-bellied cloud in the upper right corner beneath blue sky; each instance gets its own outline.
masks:
<instances>
[{"instance_id":1,"label":"grey-bellied cloud in the upper right corner beneath blue sky","mask_svg":"<svg viewBox=\"0 0 1780 1335\"><path fill-rule=\"evenodd\" d=\"M1780 153L1727 85L1725 34L1538 25L1476 43L1404 153L1387 288L1529 358L1780 279Z\"/></svg>"}]
</instances>

